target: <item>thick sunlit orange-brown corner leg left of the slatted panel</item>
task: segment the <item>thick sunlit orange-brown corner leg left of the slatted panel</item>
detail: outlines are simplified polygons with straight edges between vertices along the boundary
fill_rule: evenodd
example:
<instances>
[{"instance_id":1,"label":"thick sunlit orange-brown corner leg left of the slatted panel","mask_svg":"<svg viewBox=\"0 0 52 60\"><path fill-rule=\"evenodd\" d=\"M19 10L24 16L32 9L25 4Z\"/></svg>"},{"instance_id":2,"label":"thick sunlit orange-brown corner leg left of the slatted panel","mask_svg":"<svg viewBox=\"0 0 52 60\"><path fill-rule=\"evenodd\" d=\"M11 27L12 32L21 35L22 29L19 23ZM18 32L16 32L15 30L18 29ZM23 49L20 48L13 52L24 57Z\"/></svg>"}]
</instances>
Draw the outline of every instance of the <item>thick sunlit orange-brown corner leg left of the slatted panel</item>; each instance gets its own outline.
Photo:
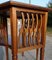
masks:
<instances>
[{"instance_id":1,"label":"thick sunlit orange-brown corner leg left of the slatted panel","mask_svg":"<svg viewBox=\"0 0 52 60\"><path fill-rule=\"evenodd\" d=\"M12 60L17 60L17 17L16 9L10 8L11 39L12 39Z\"/></svg>"}]
</instances>

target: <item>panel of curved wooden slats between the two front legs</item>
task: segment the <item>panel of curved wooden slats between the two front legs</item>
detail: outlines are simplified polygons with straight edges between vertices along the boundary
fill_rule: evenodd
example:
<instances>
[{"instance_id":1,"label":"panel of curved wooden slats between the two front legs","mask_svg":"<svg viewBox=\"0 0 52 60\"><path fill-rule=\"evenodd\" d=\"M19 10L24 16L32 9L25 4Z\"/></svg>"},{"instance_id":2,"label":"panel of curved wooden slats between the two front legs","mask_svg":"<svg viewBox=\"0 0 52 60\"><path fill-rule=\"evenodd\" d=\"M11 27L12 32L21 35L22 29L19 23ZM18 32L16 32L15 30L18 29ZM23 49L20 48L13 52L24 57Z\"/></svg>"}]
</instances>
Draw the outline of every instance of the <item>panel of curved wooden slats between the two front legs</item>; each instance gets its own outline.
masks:
<instances>
[{"instance_id":1,"label":"panel of curved wooden slats between the two front legs","mask_svg":"<svg viewBox=\"0 0 52 60\"><path fill-rule=\"evenodd\" d=\"M20 22L18 47L25 48L41 44L42 14L18 12Z\"/></svg>"}]
</instances>

